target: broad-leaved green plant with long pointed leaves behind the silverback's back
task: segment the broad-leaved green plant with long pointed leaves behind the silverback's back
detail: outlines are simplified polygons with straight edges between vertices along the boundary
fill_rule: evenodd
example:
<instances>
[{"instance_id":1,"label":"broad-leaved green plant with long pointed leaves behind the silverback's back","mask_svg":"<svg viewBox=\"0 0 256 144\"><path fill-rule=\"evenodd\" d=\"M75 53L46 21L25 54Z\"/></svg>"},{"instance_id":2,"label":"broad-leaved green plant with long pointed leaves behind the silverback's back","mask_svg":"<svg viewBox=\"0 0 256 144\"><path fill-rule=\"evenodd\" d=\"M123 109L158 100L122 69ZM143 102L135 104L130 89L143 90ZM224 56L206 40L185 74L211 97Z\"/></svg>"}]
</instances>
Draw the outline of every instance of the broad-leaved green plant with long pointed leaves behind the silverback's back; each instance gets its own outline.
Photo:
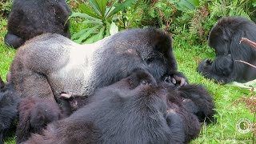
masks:
<instances>
[{"instance_id":1,"label":"broad-leaved green plant with long pointed leaves behind the silverback's back","mask_svg":"<svg viewBox=\"0 0 256 144\"><path fill-rule=\"evenodd\" d=\"M74 42L96 42L110 34L118 32L118 26L112 21L114 14L131 6L137 0L126 0L122 3L110 4L108 0L87 0L78 4L81 12L74 12L70 18L81 18L86 28L72 35ZM109 6L110 5L110 6Z\"/></svg>"}]
</instances>

